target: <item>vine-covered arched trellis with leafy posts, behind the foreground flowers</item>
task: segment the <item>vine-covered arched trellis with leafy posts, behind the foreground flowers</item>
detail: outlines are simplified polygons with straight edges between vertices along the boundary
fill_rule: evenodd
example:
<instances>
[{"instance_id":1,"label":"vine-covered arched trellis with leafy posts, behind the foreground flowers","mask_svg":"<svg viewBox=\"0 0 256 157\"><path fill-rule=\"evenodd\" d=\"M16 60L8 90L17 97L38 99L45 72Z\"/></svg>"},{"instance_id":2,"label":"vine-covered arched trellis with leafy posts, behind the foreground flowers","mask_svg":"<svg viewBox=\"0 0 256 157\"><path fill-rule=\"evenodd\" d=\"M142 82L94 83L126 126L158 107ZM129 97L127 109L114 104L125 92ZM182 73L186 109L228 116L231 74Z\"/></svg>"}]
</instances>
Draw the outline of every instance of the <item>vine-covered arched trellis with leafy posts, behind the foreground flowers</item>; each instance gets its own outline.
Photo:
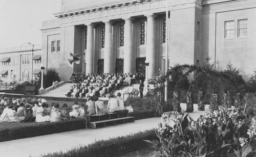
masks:
<instances>
[{"instance_id":1,"label":"vine-covered arched trellis with leafy posts, behind the foreground flowers","mask_svg":"<svg viewBox=\"0 0 256 157\"><path fill-rule=\"evenodd\" d=\"M165 75L164 72L159 72L157 75L153 76L149 80L150 83L163 84L166 78L169 78L170 75L177 73L177 71L182 71L182 75L179 75L178 81L175 85L174 94L173 94L173 106L174 110L180 112L180 88L185 79L194 71L197 71L198 76L196 79L190 83L188 93L187 93L187 110L186 112L193 112L194 110L194 94L195 85L198 87L196 92L199 92L198 106L199 110L204 110L204 93L210 92L214 94L211 96L212 109L218 110L220 98L223 99L223 95L226 91L233 91L237 93L240 91L238 88L238 83L245 85L242 77L236 77L234 74L228 71L215 71L212 65L206 65L203 67L197 67L195 65L177 65L167 71ZM234 77L235 80L234 81ZM191 92L191 93L190 93ZM218 94L217 94L218 93ZM230 106L230 95L226 95L225 105Z\"/></svg>"}]
</instances>

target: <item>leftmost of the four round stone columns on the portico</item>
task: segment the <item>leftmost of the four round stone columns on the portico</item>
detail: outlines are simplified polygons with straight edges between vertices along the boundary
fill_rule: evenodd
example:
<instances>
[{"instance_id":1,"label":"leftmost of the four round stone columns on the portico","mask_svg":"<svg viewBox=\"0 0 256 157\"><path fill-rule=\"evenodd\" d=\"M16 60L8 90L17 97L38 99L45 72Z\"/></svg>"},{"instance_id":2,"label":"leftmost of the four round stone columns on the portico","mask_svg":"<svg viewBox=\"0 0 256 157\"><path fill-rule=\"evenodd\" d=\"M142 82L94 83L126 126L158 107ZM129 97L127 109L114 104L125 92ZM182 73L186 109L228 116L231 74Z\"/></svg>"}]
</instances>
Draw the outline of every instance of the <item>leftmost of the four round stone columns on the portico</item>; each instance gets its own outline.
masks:
<instances>
[{"instance_id":1,"label":"leftmost of the four round stone columns on the portico","mask_svg":"<svg viewBox=\"0 0 256 157\"><path fill-rule=\"evenodd\" d=\"M87 25L86 73L93 73L94 64L94 24Z\"/></svg>"}]
</instances>

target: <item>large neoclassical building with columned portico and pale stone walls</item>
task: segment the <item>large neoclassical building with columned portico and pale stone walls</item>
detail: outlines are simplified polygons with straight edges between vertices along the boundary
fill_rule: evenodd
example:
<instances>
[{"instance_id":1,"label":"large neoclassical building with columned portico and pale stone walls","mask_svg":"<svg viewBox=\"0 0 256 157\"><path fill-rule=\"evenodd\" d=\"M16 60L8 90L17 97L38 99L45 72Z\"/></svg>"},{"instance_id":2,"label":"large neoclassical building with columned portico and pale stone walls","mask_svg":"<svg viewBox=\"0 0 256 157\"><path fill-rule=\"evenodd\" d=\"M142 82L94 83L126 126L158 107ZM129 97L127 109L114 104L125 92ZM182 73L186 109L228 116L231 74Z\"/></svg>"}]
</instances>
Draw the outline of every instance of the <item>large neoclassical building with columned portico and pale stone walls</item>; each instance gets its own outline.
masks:
<instances>
[{"instance_id":1,"label":"large neoclassical building with columned portico and pale stone walls","mask_svg":"<svg viewBox=\"0 0 256 157\"><path fill-rule=\"evenodd\" d=\"M99 59L104 72L115 72L119 58L124 73L136 72L142 57L148 77L165 64L202 65L206 57L216 69L231 62L250 75L256 69L255 15L254 0L62 0L57 19L42 22L41 59L62 80L77 70L97 73ZM70 53L86 54L78 69Z\"/></svg>"}]
</instances>

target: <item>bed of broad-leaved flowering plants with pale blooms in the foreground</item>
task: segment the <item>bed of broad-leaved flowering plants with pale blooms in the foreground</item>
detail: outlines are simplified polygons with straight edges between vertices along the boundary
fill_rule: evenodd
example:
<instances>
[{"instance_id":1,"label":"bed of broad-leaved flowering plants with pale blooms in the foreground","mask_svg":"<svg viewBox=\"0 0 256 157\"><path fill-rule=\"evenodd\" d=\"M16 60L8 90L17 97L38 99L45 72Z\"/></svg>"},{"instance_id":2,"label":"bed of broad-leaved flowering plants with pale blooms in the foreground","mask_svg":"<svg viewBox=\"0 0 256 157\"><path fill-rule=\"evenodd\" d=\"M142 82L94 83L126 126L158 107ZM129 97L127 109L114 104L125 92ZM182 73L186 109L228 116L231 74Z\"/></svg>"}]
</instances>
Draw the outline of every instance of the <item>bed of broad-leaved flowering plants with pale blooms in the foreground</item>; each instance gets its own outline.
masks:
<instances>
[{"instance_id":1,"label":"bed of broad-leaved flowering plants with pale blooms in the foreground","mask_svg":"<svg viewBox=\"0 0 256 157\"><path fill-rule=\"evenodd\" d=\"M163 123L155 130L159 140L149 141L162 156L233 156L256 155L256 120L247 119L236 108L206 112L197 121L188 114L175 115L175 125L169 125L170 115L162 115Z\"/></svg>"}]
</instances>

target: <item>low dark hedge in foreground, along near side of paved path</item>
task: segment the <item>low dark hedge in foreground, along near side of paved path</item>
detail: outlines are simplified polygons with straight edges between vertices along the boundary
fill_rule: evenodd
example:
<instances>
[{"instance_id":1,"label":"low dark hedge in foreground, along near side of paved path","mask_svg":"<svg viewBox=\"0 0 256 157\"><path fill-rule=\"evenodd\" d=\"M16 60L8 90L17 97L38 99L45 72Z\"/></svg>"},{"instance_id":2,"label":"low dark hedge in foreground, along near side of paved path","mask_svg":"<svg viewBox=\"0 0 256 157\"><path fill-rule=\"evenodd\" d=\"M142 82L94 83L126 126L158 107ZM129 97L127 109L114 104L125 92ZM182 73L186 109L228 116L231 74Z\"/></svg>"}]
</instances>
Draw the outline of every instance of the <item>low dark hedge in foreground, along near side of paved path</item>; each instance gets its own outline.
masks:
<instances>
[{"instance_id":1,"label":"low dark hedge in foreground, along near side of paved path","mask_svg":"<svg viewBox=\"0 0 256 157\"><path fill-rule=\"evenodd\" d=\"M143 140L157 139L154 130L145 130L136 134L111 138L109 140L96 141L88 146L73 148L67 152L53 152L41 156L64 157L64 156L120 156L127 152L136 151L146 147Z\"/></svg>"}]
</instances>

